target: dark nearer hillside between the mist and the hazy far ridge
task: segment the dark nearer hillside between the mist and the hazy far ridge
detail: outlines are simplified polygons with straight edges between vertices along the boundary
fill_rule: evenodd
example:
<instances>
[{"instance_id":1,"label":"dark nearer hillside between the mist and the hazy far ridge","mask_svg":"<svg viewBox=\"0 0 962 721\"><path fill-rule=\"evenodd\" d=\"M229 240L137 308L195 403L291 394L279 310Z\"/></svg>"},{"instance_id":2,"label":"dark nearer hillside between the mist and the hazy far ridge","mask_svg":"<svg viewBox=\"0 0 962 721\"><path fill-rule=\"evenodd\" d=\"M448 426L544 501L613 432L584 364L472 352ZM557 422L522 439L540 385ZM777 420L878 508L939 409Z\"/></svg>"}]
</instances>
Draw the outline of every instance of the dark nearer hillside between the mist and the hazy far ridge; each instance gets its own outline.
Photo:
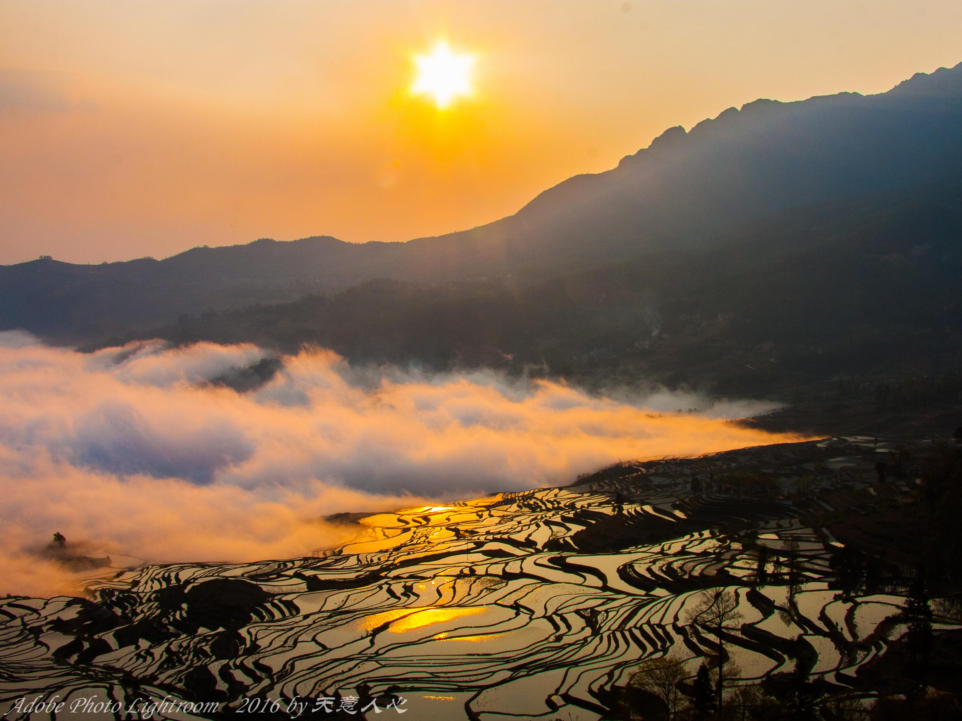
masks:
<instances>
[{"instance_id":1,"label":"dark nearer hillside between the mist and the hazy far ridge","mask_svg":"<svg viewBox=\"0 0 962 721\"><path fill-rule=\"evenodd\" d=\"M722 243L547 281L371 281L140 337L768 393L962 367L960 278L962 177L783 211Z\"/></svg>"}]
</instances>

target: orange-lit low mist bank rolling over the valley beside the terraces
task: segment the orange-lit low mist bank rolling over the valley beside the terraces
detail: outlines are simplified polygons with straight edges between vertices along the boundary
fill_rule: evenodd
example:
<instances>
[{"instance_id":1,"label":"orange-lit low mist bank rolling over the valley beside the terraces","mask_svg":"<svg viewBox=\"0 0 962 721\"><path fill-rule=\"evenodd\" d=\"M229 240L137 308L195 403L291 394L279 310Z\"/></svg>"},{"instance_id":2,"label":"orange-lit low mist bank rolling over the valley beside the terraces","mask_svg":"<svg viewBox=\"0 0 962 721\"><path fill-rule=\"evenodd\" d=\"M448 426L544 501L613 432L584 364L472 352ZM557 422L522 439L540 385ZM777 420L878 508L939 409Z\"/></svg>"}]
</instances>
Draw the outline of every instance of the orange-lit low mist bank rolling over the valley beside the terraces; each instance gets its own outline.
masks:
<instances>
[{"instance_id":1,"label":"orange-lit low mist bank rolling over the valley beside the terraces","mask_svg":"<svg viewBox=\"0 0 962 721\"><path fill-rule=\"evenodd\" d=\"M795 440L724 420L763 404L354 368L321 349L284 357L246 393L209 382L268 355L159 342L84 354L0 333L0 592L63 592L78 555L303 555L351 537L322 520L333 513L567 484L619 459ZM55 531L62 548L50 546Z\"/></svg>"}]
</instances>

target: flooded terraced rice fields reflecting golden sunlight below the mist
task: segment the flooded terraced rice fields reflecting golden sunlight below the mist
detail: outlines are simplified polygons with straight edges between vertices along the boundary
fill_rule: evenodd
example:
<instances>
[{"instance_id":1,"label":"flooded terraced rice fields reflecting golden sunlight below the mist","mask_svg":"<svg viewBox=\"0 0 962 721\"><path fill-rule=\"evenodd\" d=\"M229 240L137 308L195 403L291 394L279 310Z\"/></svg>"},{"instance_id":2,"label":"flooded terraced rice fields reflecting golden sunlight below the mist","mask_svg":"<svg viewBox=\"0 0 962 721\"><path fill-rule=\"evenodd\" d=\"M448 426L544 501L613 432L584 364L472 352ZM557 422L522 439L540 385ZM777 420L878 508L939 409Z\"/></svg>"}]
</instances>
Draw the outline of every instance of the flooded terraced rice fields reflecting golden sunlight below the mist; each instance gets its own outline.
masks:
<instances>
[{"instance_id":1,"label":"flooded terraced rice fields reflecting golden sunlight below the mist","mask_svg":"<svg viewBox=\"0 0 962 721\"><path fill-rule=\"evenodd\" d=\"M875 451L836 439L639 463L569 488L370 516L364 540L316 557L149 566L93 583L96 603L7 599L0 712L24 693L227 708L393 693L411 719L587 721L645 658L674 650L695 673L714 637L686 610L719 587L742 614L727 639L742 678L794 668L788 642L800 638L813 675L846 686L899 636L902 599L829 590L838 544L804 528L787 497L813 453L819 470L830 461L873 483ZM771 476L771 497L706 482L733 469ZM579 539L606 519L663 539L585 551ZM797 554L791 586L755 582L749 539Z\"/></svg>"}]
</instances>

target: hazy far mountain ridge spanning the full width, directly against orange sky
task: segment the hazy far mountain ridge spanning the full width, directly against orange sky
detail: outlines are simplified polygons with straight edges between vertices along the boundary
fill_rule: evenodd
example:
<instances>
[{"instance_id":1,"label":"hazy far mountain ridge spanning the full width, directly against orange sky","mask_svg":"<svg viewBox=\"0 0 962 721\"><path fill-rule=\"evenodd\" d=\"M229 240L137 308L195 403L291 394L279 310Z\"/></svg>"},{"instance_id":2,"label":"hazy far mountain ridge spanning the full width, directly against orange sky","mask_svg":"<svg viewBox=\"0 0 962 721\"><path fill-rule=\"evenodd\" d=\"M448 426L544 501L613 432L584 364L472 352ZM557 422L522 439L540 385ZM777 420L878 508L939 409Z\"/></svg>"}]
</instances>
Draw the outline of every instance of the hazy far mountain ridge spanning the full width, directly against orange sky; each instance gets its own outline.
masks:
<instances>
[{"instance_id":1,"label":"hazy far mountain ridge spanning the full width, directly against orange sky","mask_svg":"<svg viewBox=\"0 0 962 721\"><path fill-rule=\"evenodd\" d=\"M962 64L877 95L756 100L687 133L671 128L612 170L570 178L516 215L460 233L363 245L261 240L163 261L0 267L0 328L94 339L378 278L523 284L731 243L745 237L740 229L782 211L950 178L957 167Z\"/></svg>"}]
</instances>

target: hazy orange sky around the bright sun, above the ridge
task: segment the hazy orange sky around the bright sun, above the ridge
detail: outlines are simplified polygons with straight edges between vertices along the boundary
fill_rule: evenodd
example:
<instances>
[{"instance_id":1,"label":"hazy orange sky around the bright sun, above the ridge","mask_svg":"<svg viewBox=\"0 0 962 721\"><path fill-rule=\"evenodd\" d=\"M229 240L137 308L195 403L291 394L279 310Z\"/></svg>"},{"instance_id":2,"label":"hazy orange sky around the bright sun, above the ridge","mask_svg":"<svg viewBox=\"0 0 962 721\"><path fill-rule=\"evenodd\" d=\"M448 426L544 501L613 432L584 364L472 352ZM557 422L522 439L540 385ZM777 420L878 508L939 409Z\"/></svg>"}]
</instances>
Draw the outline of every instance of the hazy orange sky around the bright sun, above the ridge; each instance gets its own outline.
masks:
<instances>
[{"instance_id":1,"label":"hazy orange sky around the bright sun, above the ridge","mask_svg":"<svg viewBox=\"0 0 962 721\"><path fill-rule=\"evenodd\" d=\"M476 55L444 111L409 92L440 38ZM0 0L0 263L463 229L959 38L958 0Z\"/></svg>"}]
</instances>

